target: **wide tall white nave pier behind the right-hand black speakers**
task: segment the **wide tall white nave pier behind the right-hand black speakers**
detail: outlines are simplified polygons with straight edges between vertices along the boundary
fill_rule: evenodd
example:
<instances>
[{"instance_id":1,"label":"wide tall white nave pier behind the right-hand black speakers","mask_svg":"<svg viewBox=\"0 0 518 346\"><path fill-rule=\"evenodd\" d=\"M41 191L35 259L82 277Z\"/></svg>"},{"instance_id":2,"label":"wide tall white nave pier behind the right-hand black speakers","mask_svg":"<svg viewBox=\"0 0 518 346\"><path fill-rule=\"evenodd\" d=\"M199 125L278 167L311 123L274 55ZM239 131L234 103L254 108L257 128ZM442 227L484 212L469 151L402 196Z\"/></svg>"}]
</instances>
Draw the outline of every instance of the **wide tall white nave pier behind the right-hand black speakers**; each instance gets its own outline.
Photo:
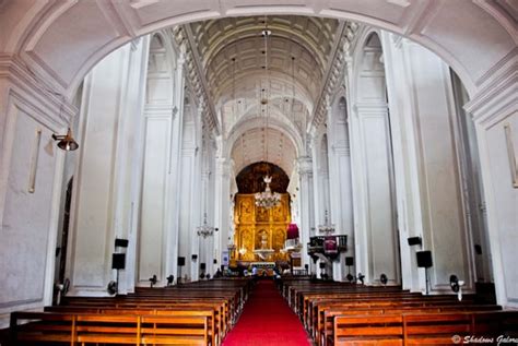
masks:
<instances>
[{"instance_id":1,"label":"wide tall white nave pier behind the right-hand black speakers","mask_svg":"<svg viewBox=\"0 0 518 346\"><path fill-rule=\"evenodd\" d=\"M402 211L399 215L404 275L415 278L419 271L419 286L413 279L410 288L425 290L424 270L416 269L415 250L404 243L413 232L423 238L423 249L432 251L432 290L450 293L451 274L466 282L464 290L471 290L472 242L460 174L455 120L459 115L454 106L449 68L427 49L407 39L395 45L393 39L387 35L384 44L387 62L396 68L387 69L387 74L395 119L392 138L395 147L400 150L396 164L398 198L402 199L398 206Z\"/></svg>"}]
</instances>

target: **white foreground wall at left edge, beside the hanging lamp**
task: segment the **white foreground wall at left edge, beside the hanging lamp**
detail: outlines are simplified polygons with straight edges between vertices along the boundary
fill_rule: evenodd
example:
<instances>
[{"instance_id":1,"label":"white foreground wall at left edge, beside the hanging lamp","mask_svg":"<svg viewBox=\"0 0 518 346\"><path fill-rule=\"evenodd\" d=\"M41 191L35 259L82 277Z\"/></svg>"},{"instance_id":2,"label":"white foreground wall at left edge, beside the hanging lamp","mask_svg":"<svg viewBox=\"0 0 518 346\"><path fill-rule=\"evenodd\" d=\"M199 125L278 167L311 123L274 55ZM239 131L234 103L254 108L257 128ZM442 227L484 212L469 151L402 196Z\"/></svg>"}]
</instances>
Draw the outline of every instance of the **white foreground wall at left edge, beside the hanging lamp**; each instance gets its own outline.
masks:
<instances>
[{"instance_id":1,"label":"white foreground wall at left edge, beside the hanging lamp","mask_svg":"<svg viewBox=\"0 0 518 346\"><path fill-rule=\"evenodd\" d=\"M25 77L1 77L0 94L7 100L0 104L0 327L4 327L10 311L51 302L66 155L51 134L67 131L73 108Z\"/></svg>"}]
</instances>

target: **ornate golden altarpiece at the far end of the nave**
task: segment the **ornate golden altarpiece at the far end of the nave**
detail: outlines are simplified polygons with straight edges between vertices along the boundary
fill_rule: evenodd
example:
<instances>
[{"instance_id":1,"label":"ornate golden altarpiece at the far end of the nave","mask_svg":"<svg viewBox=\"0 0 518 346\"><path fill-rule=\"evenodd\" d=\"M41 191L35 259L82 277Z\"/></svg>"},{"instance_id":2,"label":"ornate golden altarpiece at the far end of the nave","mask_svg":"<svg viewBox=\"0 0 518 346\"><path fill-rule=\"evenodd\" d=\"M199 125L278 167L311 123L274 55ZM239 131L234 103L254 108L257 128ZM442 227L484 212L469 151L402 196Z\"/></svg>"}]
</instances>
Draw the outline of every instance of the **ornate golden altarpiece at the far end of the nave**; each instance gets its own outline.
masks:
<instances>
[{"instance_id":1,"label":"ornate golden altarpiece at the far end of the nave","mask_svg":"<svg viewBox=\"0 0 518 346\"><path fill-rule=\"evenodd\" d=\"M290 195L281 193L281 202L271 208L256 205L254 194L237 193L234 208L236 250L231 262L287 262L281 251L291 222Z\"/></svg>"}]
</instances>

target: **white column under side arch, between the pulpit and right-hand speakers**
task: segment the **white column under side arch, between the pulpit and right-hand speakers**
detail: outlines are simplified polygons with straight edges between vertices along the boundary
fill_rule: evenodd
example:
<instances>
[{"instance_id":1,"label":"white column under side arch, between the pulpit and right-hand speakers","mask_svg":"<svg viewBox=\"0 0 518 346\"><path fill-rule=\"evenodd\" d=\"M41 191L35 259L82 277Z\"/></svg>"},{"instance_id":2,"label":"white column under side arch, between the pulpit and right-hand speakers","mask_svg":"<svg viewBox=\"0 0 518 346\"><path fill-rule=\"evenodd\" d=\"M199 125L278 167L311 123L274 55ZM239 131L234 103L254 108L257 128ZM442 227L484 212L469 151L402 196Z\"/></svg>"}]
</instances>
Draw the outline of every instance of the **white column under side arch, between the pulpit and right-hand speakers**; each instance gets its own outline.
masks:
<instances>
[{"instance_id":1,"label":"white column under side arch, between the pulpit and right-hand speakers","mask_svg":"<svg viewBox=\"0 0 518 346\"><path fill-rule=\"evenodd\" d=\"M357 229L360 249L367 254L364 266L367 283L379 283L380 274L399 284L399 254L393 219L391 154L388 109L384 105L356 105L358 166L363 186L364 224Z\"/></svg>"}]
</instances>

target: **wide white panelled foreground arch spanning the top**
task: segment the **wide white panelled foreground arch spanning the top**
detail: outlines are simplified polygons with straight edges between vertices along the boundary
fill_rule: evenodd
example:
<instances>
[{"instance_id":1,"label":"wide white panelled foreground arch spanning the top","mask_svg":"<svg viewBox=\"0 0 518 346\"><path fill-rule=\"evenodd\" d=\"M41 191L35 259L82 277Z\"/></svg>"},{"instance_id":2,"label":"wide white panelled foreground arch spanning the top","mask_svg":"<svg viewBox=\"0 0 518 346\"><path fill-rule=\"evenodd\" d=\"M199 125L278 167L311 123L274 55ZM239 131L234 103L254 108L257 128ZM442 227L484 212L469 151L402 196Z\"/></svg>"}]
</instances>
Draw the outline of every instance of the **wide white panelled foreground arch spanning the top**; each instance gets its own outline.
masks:
<instances>
[{"instance_id":1,"label":"wide white panelled foreground arch spanning the top","mask_svg":"<svg viewBox=\"0 0 518 346\"><path fill-rule=\"evenodd\" d=\"M163 0L16 3L0 14L0 32L5 37L0 50L20 55L32 70L70 97L97 61L134 37L193 21L263 14L330 16L396 32L440 56L470 95L516 56L518 44L513 15L496 1L304 0L296 5L291 1L264 5L260 0ZM70 49L72 45L74 49Z\"/></svg>"}]
</instances>

